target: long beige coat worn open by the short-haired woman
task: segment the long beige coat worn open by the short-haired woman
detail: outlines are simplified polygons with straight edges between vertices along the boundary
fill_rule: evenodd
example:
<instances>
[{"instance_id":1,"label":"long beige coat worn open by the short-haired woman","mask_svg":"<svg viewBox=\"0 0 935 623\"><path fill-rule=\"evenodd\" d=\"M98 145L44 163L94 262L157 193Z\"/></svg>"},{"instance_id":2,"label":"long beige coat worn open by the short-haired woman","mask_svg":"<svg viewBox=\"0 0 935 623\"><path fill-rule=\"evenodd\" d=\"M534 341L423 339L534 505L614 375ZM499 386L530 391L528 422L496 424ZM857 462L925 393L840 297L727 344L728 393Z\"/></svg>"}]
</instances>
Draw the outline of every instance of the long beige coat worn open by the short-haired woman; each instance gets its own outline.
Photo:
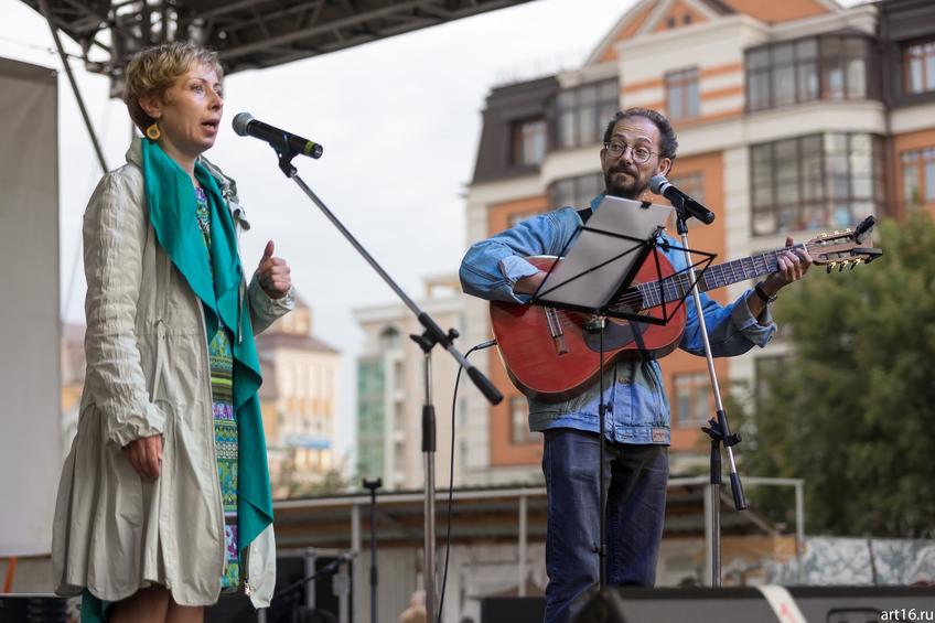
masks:
<instances>
[{"instance_id":1,"label":"long beige coat worn open by the short-haired woman","mask_svg":"<svg viewBox=\"0 0 935 623\"><path fill-rule=\"evenodd\" d=\"M146 208L139 139L128 163L98 184L84 217L88 283L87 374L78 432L62 470L52 539L56 592L87 587L118 601L169 588L183 605L217 601L224 514L217 477L211 374L202 304L157 245ZM238 232L247 229L234 182L212 169ZM255 333L293 305L254 279ZM162 471L140 479L122 447L162 434ZM276 581L272 526L250 546L246 591L269 604Z\"/></svg>"}]
</instances>

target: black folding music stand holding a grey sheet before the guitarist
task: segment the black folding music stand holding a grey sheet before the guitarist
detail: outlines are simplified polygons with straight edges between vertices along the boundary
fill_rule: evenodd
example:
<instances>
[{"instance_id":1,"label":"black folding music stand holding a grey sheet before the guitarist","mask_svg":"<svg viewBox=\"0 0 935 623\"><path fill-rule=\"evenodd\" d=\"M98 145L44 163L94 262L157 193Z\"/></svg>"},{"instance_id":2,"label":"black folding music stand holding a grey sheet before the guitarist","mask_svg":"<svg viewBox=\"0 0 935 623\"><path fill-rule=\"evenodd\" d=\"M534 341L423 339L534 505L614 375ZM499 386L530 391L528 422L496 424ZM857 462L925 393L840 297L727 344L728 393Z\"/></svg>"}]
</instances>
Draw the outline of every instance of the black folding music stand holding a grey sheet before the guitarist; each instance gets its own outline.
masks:
<instances>
[{"instance_id":1,"label":"black folding music stand holding a grey sheet before the guitarist","mask_svg":"<svg viewBox=\"0 0 935 623\"><path fill-rule=\"evenodd\" d=\"M588 223L582 223L562 248L546 278L533 293L529 304L557 308L591 314L585 331L598 333L599 352L599 436L598 477L600 487L599 584L606 587L606 487L604 483L604 444L608 405L604 402L604 330L606 319L666 324L690 296L695 281L700 280L714 259L714 254L692 251L669 243L663 237L673 208L649 202L637 202L611 195L604 196ZM630 232L628 234L625 232ZM633 235L635 234L635 235ZM573 246L572 246L573 245ZM691 268L701 266L695 280L686 278L689 269L675 271L657 279L656 283L633 287L644 262L652 261L656 275L662 273L659 248L681 250L705 256ZM570 250L569 250L570 249ZM702 266L703 265L703 266ZM667 303L678 301L671 312ZM662 307L662 316L640 313L643 309ZM638 336L638 332L634 332ZM585 340L585 342L588 342ZM588 342L589 347L593 344Z\"/></svg>"}]
</instances>

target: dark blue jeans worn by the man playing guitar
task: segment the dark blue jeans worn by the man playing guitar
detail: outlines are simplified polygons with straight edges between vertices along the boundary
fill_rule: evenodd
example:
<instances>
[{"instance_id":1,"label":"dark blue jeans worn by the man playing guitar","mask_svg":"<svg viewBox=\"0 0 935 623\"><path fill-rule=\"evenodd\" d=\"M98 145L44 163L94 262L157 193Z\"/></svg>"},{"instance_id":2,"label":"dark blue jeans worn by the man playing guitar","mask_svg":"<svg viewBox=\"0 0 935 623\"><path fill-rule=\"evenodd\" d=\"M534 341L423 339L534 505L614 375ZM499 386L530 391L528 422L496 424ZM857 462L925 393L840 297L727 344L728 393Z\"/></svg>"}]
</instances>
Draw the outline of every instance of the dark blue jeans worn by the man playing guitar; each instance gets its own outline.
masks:
<instances>
[{"instance_id":1,"label":"dark blue jeans worn by the man playing guitar","mask_svg":"<svg viewBox=\"0 0 935 623\"><path fill-rule=\"evenodd\" d=\"M600 438L569 428L545 431L542 472L548 495L546 623L574 621L600 580L595 547ZM663 538L668 448L608 442L608 584L652 587Z\"/></svg>"}]
</instances>

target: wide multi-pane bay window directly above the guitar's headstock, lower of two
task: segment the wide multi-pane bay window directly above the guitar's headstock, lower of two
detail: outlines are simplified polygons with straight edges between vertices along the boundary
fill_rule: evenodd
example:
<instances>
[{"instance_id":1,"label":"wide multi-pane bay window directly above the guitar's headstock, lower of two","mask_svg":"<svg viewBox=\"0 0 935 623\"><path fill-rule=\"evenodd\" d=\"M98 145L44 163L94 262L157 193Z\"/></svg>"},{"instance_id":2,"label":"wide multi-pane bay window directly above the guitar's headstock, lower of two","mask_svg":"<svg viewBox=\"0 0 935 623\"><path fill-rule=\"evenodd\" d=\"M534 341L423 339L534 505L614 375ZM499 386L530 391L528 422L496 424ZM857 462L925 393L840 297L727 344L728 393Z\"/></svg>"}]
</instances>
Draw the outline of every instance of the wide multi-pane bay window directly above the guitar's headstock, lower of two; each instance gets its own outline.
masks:
<instances>
[{"instance_id":1,"label":"wide multi-pane bay window directly above the guitar's headstock, lower of two","mask_svg":"<svg viewBox=\"0 0 935 623\"><path fill-rule=\"evenodd\" d=\"M843 228L877 208L882 146L866 133L810 135L750 148L753 234Z\"/></svg>"}]
</instances>

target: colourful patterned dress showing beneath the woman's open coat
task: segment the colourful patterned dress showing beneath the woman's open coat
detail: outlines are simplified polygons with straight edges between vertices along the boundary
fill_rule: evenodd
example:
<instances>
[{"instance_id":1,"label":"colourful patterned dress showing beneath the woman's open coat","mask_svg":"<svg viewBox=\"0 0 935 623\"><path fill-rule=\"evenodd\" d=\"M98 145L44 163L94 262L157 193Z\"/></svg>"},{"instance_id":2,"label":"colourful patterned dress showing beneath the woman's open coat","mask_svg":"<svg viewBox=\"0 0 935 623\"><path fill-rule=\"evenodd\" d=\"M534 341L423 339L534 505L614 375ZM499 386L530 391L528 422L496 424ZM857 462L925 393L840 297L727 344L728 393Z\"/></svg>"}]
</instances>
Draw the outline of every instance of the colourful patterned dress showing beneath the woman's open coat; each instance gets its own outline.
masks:
<instances>
[{"instance_id":1,"label":"colourful patterned dress showing beneath the woman's open coat","mask_svg":"<svg viewBox=\"0 0 935 623\"><path fill-rule=\"evenodd\" d=\"M202 189L195 189L198 227L211 250L211 207ZM211 262L208 261L208 265ZM226 566L221 588L236 590L240 584L240 559L237 552L237 418L234 413L234 353L230 333L223 325L208 342L211 356L211 398L214 410L214 438L217 451L217 477L224 503Z\"/></svg>"}]
</instances>

